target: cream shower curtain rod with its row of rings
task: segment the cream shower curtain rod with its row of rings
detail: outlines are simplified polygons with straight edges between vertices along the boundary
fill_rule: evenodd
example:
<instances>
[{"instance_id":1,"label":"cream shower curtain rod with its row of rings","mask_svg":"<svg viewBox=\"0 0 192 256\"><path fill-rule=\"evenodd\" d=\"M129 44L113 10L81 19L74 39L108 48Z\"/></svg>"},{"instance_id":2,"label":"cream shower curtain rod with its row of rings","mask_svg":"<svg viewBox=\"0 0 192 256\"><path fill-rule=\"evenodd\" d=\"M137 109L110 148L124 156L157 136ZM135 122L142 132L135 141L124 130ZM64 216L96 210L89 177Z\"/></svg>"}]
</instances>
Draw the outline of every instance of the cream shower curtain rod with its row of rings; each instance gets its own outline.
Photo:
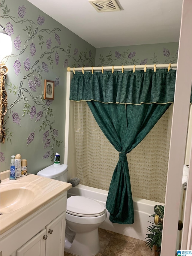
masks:
<instances>
[{"instance_id":1,"label":"cream shower curtain rod with its row of rings","mask_svg":"<svg viewBox=\"0 0 192 256\"><path fill-rule=\"evenodd\" d=\"M67 71L73 71L73 73L75 71L103 71L103 70L119 70L122 71L123 70L127 70L127 69L146 69L146 68L151 68L154 69L154 71L156 70L156 68L177 68L177 63L173 63L173 64L147 64L147 65L129 65L129 66L103 66L103 67L80 67L80 68L70 68L67 67Z\"/></svg>"}]
</instances>

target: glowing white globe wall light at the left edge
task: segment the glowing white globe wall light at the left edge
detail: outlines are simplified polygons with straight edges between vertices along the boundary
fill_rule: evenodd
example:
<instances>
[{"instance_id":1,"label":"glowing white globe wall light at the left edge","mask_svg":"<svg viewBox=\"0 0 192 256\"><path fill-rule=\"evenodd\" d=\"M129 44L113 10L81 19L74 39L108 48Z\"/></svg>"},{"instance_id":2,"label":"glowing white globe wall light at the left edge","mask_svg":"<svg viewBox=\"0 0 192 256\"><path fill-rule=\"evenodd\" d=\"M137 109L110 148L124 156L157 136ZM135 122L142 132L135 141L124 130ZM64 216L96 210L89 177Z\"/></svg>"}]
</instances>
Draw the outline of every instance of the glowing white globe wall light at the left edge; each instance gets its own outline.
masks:
<instances>
[{"instance_id":1,"label":"glowing white globe wall light at the left edge","mask_svg":"<svg viewBox=\"0 0 192 256\"><path fill-rule=\"evenodd\" d=\"M10 36L5 32L5 28L1 26L1 31L0 31L0 63L3 61L4 62L4 57L8 56L11 54L12 51L12 41Z\"/></svg>"}]
</instances>

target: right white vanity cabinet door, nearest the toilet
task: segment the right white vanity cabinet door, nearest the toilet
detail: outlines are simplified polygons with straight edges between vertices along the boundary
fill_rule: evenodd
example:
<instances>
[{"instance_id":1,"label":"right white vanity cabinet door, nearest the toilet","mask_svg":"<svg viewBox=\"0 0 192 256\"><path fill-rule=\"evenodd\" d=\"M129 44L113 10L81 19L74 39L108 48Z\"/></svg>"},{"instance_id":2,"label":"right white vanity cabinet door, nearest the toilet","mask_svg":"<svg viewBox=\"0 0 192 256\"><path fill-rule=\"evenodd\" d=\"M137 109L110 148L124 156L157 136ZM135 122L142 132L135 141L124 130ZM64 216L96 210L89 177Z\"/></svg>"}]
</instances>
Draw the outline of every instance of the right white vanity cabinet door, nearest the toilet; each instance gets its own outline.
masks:
<instances>
[{"instance_id":1,"label":"right white vanity cabinet door, nearest the toilet","mask_svg":"<svg viewBox=\"0 0 192 256\"><path fill-rule=\"evenodd\" d=\"M49 223L46 228L45 256L63 256L65 242L65 212Z\"/></svg>"}]
</instances>

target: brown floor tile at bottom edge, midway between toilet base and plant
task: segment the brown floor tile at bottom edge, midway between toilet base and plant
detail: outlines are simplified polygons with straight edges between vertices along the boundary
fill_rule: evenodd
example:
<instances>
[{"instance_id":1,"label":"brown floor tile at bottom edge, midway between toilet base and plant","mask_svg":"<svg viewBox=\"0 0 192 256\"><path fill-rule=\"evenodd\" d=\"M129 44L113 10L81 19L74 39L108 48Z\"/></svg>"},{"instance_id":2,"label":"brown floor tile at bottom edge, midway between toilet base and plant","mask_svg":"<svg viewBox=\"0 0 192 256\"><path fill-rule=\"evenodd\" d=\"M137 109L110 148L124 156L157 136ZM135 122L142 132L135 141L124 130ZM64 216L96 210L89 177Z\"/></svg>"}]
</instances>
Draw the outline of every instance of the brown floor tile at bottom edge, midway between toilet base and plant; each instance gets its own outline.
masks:
<instances>
[{"instance_id":1,"label":"brown floor tile at bottom edge, midway between toilet base and plant","mask_svg":"<svg viewBox=\"0 0 192 256\"><path fill-rule=\"evenodd\" d=\"M112 238L104 251L106 256L135 255L138 245L117 238Z\"/></svg>"}]
</instances>

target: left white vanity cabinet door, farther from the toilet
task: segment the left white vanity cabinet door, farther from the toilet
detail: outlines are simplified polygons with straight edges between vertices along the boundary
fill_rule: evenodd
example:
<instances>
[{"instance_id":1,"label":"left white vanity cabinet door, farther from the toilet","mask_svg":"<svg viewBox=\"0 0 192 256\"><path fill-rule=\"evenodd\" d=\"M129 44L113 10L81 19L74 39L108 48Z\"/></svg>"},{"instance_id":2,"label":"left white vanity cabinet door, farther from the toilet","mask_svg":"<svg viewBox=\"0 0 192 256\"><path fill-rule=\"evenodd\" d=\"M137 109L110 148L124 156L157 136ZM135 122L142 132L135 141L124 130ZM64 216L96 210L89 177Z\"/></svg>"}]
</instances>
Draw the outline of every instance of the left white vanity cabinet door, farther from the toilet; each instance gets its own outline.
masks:
<instances>
[{"instance_id":1,"label":"left white vanity cabinet door, farther from the toilet","mask_svg":"<svg viewBox=\"0 0 192 256\"><path fill-rule=\"evenodd\" d=\"M16 251L16 256L44 256L46 243L43 238L44 235L46 235L45 229L29 240L29 242L20 247Z\"/></svg>"}]
</instances>

